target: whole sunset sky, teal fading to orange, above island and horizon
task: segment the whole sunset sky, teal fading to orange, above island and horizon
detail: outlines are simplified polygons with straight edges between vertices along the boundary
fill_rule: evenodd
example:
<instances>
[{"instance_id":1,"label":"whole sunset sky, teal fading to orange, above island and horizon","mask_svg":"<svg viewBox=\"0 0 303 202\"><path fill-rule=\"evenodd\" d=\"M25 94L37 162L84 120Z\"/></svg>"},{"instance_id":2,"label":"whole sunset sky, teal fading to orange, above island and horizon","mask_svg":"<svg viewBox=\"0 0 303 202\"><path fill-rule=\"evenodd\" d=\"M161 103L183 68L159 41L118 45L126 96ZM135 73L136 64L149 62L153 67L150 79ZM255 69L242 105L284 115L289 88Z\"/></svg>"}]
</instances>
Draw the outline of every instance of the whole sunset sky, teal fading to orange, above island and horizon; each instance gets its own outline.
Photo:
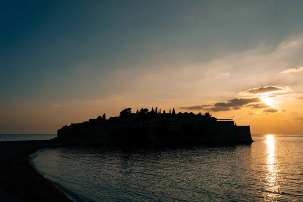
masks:
<instances>
[{"instance_id":1,"label":"whole sunset sky, teal fading to orange, above island and horizon","mask_svg":"<svg viewBox=\"0 0 303 202\"><path fill-rule=\"evenodd\" d=\"M303 134L303 1L2 1L0 134L210 112Z\"/></svg>"}]
</instances>

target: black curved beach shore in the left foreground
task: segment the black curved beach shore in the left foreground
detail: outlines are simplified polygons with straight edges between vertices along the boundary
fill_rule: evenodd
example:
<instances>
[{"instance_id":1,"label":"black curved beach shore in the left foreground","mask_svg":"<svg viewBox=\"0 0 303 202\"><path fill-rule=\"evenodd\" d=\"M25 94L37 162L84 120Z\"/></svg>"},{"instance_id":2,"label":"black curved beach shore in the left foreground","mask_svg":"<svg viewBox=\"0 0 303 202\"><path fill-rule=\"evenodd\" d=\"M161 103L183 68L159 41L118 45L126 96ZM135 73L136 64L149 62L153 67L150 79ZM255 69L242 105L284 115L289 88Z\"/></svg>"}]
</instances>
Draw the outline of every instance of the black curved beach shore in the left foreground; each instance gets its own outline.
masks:
<instances>
[{"instance_id":1,"label":"black curved beach shore in the left foreground","mask_svg":"<svg viewBox=\"0 0 303 202\"><path fill-rule=\"evenodd\" d=\"M38 149L62 146L52 140L0 142L0 202L72 201L29 164Z\"/></svg>"}]
</instances>

